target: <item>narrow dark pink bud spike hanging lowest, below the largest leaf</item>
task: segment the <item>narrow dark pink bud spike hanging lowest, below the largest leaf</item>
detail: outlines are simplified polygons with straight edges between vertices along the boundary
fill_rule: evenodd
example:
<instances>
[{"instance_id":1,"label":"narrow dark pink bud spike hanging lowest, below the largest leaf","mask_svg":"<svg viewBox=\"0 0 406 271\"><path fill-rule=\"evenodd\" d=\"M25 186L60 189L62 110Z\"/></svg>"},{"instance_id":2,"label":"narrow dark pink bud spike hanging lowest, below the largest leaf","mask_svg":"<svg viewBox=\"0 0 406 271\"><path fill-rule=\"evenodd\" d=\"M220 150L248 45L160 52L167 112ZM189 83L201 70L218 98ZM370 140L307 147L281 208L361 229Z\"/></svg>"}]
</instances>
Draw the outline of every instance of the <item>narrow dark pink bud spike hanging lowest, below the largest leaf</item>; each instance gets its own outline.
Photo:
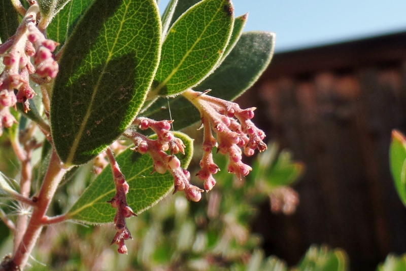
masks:
<instances>
[{"instance_id":1,"label":"narrow dark pink bud spike hanging lowest, below the largest leaf","mask_svg":"<svg viewBox=\"0 0 406 271\"><path fill-rule=\"evenodd\" d=\"M117 233L113 237L111 244L113 245L115 243L118 245L119 253L127 254L127 247L125 246L124 241L132 239L132 237L126 226L125 218L137 215L127 204L126 195L129 190L129 185L125 181L125 177L121 173L120 167L114 159L113 152L110 149L107 150L107 156L110 160L114 182L116 184L116 195L110 201L108 201L108 203L110 203L113 208L117 209L116 215L114 217L114 225L116 227Z\"/></svg>"}]
</instances>

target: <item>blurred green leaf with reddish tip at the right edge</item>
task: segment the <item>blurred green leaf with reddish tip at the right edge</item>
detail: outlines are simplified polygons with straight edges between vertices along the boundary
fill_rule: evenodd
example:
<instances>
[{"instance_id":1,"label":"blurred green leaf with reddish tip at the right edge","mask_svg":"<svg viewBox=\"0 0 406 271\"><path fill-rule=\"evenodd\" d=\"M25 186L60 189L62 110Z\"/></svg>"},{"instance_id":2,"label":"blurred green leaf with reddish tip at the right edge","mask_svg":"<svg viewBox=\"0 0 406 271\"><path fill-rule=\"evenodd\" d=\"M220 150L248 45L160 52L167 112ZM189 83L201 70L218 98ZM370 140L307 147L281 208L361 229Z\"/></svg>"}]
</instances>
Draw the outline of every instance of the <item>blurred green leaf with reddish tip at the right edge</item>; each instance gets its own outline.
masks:
<instances>
[{"instance_id":1,"label":"blurred green leaf with reddish tip at the right edge","mask_svg":"<svg viewBox=\"0 0 406 271\"><path fill-rule=\"evenodd\" d=\"M397 130L392 131L389 161L396 191L406 206L406 137Z\"/></svg>"}]
</instances>

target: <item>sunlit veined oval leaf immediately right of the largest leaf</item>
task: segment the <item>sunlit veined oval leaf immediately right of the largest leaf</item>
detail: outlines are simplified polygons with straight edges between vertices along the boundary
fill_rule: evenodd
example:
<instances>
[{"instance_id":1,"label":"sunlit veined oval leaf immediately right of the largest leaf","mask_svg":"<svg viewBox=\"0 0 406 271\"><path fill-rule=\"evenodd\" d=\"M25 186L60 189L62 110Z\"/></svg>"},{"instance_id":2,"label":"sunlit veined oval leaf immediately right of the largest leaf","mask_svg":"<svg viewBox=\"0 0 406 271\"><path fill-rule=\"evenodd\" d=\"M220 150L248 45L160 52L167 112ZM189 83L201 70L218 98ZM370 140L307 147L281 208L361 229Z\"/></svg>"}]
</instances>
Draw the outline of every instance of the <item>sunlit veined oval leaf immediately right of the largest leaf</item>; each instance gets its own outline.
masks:
<instances>
[{"instance_id":1,"label":"sunlit veined oval leaf immediately right of the largest leaf","mask_svg":"<svg viewBox=\"0 0 406 271\"><path fill-rule=\"evenodd\" d=\"M151 94L175 95L205 79L224 53L233 22L229 0L204 0L184 13L163 42Z\"/></svg>"}]
</instances>

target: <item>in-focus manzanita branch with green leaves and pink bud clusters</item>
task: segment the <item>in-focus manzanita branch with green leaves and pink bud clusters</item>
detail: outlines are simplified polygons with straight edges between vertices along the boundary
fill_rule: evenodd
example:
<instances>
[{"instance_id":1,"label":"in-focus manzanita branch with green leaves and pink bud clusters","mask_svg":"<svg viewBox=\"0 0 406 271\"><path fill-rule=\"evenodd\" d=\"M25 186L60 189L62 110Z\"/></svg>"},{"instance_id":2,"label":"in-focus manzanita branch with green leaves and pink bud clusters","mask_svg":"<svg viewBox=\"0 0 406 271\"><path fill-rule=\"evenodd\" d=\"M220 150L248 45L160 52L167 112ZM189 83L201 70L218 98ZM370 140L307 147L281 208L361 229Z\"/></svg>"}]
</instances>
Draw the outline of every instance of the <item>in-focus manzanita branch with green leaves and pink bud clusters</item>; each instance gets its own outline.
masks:
<instances>
[{"instance_id":1,"label":"in-focus manzanita branch with green leaves and pink bud clusters","mask_svg":"<svg viewBox=\"0 0 406 271\"><path fill-rule=\"evenodd\" d=\"M19 191L2 176L0 196L28 210L15 221L0 210L14 233L0 269L23 269L42 228L66 220L114 222L105 238L127 253L126 218L171 191L199 201L213 188L213 151L242 179L242 154L266 149L255 108L230 101L269 64L275 36L243 33L247 14L235 17L230 0L171 0L162 17L155 0L4 0L0 11L0 133L21 162ZM199 120L203 189L186 170L193 140L171 131ZM86 163L95 180L47 216L61 180Z\"/></svg>"}]
</instances>

